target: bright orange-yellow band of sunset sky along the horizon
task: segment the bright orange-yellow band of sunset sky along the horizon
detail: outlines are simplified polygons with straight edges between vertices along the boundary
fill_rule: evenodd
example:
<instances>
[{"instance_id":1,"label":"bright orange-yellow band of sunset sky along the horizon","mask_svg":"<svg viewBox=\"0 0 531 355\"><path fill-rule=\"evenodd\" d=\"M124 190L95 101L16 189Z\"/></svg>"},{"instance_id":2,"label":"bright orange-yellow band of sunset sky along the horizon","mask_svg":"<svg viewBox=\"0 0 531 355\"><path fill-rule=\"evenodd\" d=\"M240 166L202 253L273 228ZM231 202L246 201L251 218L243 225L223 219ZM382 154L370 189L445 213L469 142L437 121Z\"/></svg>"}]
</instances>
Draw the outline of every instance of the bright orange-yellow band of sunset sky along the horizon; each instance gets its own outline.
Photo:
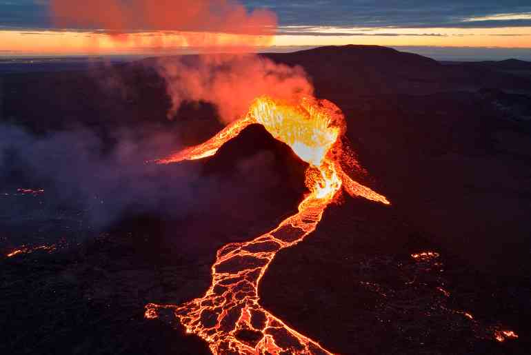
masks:
<instances>
[{"instance_id":1,"label":"bright orange-yellow band of sunset sky along the horizon","mask_svg":"<svg viewBox=\"0 0 531 355\"><path fill-rule=\"evenodd\" d=\"M261 43L273 46L318 46L345 44L421 45L435 47L531 48L531 27L520 28L312 28L312 34L290 34L297 28L281 28L281 33ZM282 33L283 32L283 33ZM341 35L337 35L337 33ZM348 34L348 35L345 35ZM214 48L248 42L231 34L196 32L140 32L113 37L108 34L74 31L0 30L0 55L83 55L157 54L191 48L200 43L216 43ZM256 42L256 41L254 41Z\"/></svg>"}]
</instances>

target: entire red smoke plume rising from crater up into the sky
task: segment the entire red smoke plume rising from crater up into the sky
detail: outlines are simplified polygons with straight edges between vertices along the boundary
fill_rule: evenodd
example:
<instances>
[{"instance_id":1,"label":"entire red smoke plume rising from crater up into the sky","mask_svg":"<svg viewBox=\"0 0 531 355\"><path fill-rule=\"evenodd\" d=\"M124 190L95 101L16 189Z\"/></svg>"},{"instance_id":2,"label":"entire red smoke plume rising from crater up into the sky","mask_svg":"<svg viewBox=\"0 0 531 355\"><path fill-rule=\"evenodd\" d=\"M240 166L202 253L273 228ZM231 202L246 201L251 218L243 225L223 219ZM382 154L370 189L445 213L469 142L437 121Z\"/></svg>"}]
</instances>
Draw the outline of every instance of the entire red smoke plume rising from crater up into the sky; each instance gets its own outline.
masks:
<instances>
[{"instance_id":1,"label":"entire red smoke plume rising from crater up into the sky","mask_svg":"<svg viewBox=\"0 0 531 355\"><path fill-rule=\"evenodd\" d=\"M229 123L245 114L255 97L297 100L313 93L302 68L246 54L270 43L277 28L270 10L248 11L236 0L94 0L84 6L52 0L51 5L61 26L103 29L114 41L129 41L134 32L157 31L180 37L181 47L201 52L194 61L158 62L172 99L170 118L183 101L208 101L217 106L223 123Z\"/></svg>"}]
</instances>

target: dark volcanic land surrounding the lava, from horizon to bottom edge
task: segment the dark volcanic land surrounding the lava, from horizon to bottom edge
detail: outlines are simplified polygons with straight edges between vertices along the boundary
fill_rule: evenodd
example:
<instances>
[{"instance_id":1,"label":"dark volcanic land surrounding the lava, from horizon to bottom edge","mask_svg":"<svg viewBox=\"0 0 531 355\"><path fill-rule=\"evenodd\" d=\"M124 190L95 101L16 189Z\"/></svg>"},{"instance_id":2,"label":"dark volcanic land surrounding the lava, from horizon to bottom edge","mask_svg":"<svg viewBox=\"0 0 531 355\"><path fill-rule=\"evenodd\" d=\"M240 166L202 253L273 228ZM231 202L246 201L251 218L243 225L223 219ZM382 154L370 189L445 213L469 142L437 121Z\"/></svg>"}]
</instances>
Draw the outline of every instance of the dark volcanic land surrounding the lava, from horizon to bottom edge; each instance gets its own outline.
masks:
<instances>
[{"instance_id":1,"label":"dark volcanic land surrounding the lava, from horizon to bottom edge","mask_svg":"<svg viewBox=\"0 0 531 355\"><path fill-rule=\"evenodd\" d=\"M339 354L528 354L531 63L353 45L263 55L301 65L343 110L367 170L354 177L392 202L329 207L268 268L265 309ZM18 142L0 142L1 354L209 354L144 306L201 296L219 247L297 209L305 163L258 125L203 161L146 163L222 127L208 103L168 120L153 61L0 74L0 134ZM54 145L57 132L76 133ZM79 148L86 132L96 143ZM39 150L57 154L46 174ZM21 245L54 247L7 256ZM519 338L496 341L503 329Z\"/></svg>"}]
</instances>

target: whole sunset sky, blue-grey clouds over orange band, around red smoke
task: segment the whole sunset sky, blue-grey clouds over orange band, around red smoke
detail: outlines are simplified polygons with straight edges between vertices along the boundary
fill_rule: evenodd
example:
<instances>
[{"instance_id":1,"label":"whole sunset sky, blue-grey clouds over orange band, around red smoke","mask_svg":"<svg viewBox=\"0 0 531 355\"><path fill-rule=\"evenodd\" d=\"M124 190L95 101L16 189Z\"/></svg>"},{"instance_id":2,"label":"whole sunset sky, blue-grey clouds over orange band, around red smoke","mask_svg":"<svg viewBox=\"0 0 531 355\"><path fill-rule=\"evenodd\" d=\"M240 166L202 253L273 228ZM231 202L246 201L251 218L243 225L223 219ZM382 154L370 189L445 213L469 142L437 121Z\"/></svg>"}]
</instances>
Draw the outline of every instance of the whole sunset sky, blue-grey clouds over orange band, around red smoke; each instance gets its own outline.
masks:
<instances>
[{"instance_id":1,"label":"whole sunset sky, blue-grey clouds over orange band, around red smoke","mask_svg":"<svg viewBox=\"0 0 531 355\"><path fill-rule=\"evenodd\" d=\"M127 12L128 3L146 0L68 0L83 16L101 21L72 21L65 12L53 11L50 3L66 0L0 0L0 55L16 54L142 54L190 50L197 38L217 36L223 43L234 39L232 26L208 28L204 24L179 27L168 21L126 21L117 28L109 22L112 9L106 1L118 3ZM196 0L216 3L215 0ZM221 2L232 0L220 0ZM217 1L219 3L220 1ZM234 0L235 1L235 0ZM156 1L152 1L155 3ZM160 1L155 7L162 6ZM245 11L276 15L277 27L261 50L289 50L317 45L374 44L407 48L493 48L498 53L531 59L531 0L241 0ZM99 3L92 8L88 3ZM101 6L103 3L103 6ZM182 4L186 12L186 1ZM124 5L125 4L125 5ZM71 6L70 6L71 7ZM125 9L125 10L124 10ZM97 12L90 12L90 11ZM70 13L73 10L70 9ZM218 11L213 10L214 13ZM94 13L96 15L94 15ZM163 14L164 12L155 12ZM89 16L90 15L90 16ZM141 14L130 15L140 16ZM218 14L219 15L219 14ZM226 16L225 12L223 15ZM177 16L178 17L178 16ZM103 21L105 20L105 21ZM90 22L90 21L89 21ZM179 22L179 20L176 20ZM154 25L154 23L157 23ZM182 23L179 22L179 23ZM270 22L265 21L270 28ZM112 27L112 28L109 28ZM212 30L212 28L214 30ZM229 30L227 30L230 28ZM112 34L110 34L110 31ZM214 31L214 32L212 32ZM217 31L217 32L216 32ZM183 35L183 32L186 34ZM184 36L184 37L183 37ZM238 34L241 37L241 34ZM183 39L184 38L184 39ZM194 38L194 41L191 40ZM209 37L210 38L210 37ZM459 50L457 50L459 48ZM503 49L503 50L502 50ZM425 50L425 49L424 49ZM432 52L436 52L437 50ZM440 51L439 51L440 52ZM448 50L446 50L448 53ZM484 52L482 52L484 53ZM470 54L470 53L468 53Z\"/></svg>"}]
</instances>

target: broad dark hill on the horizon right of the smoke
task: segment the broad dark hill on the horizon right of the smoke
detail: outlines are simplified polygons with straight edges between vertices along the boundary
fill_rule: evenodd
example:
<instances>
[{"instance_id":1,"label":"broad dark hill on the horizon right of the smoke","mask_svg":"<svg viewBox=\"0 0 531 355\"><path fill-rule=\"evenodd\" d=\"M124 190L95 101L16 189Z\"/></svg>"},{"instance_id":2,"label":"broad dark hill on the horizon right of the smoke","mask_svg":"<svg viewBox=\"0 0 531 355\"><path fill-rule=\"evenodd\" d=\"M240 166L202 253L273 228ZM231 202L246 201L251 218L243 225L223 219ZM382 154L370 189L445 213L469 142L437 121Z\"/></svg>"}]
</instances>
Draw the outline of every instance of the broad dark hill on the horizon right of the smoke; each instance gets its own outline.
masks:
<instances>
[{"instance_id":1,"label":"broad dark hill on the horizon right of the smoke","mask_svg":"<svg viewBox=\"0 0 531 355\"><path fill-rule=\"evenodd\" d=\"M328 46L265 55L274 61L303 66L314 80L317 93L323 97L531 88L530 79L483 67L441 65L418 54L378 45Z\"/></svg>"}]
</instances>

